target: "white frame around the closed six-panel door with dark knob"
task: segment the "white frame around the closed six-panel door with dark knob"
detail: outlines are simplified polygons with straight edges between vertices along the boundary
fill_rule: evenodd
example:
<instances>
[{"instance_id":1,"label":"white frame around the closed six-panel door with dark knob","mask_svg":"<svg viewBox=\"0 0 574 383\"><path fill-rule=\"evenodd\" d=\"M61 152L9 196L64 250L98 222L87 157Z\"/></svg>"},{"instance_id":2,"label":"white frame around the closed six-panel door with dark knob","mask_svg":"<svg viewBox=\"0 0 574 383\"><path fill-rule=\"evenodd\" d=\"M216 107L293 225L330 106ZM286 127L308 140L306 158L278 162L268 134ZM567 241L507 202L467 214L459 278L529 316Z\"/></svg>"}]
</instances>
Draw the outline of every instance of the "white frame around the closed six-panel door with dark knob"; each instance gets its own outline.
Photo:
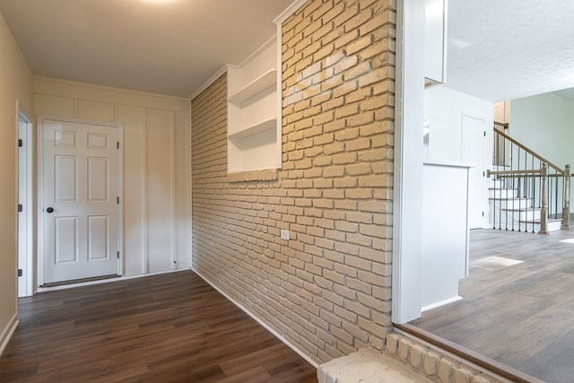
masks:
<instances>
[{"instance_id":1,"label":"white frame around the closed six-panel door with dark knob","mask_svg":"<svg viewBox=\"0 0 574 383\"><path fill-rule=\"evenodd\" d=\"M83 119L83 118L65 118L65 117L58 117L58 116L48 116L48 115L39 115L37 121L37 130L38 130L38 216L41 217L43 213L44 207L44 190L43 190L43 168L42 168L42 158L43 158L43 130L44 130L44 120L55 120L55 121L62 121L62 122L70 122L70 123L77 123L77 124L91 124L91 125L99 125L99 126L108 126L108 127L115 127L117 128L117 143L118 143L118 150L117 150L117 194L119 196L119 206L117 212L117 248L119 250L120 257L117 262L117 275L122 275L124 272L124 248L123 248L123 238L124 238L124 230L123 230L123 204L124 204L124 193L123 193L123 180L124 180L124 165L123 165L123 149L124 149L124 126L121 123L117 122L108 122L108 121L98 121L98 120L91 120L91 119ZM44 284L44 251L42 244L44 243L43 238L43 220L38 220L38 283L37 286L42 286Z\"/></svg>"}]
</instances>

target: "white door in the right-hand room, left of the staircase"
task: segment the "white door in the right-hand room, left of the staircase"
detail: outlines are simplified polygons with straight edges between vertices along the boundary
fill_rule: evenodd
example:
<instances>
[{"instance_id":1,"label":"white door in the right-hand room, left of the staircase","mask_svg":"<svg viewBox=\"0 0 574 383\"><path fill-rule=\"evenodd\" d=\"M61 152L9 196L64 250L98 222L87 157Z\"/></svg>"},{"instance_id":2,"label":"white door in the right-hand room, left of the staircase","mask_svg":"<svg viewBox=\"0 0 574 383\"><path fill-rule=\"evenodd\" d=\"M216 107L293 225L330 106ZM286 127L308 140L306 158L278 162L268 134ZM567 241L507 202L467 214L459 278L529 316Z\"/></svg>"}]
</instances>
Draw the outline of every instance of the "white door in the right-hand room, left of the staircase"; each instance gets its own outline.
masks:
<instances>
[{"instance_id":1,"label":"white door in the right-hand room, left of the staircase","mask_svg":"<svg viewBox=\"0 0 574 383\"><path fill-rule=\"evenodd\" d=\"M468 175L468 227L483 228L484 222L484 150L486 126L484 119L463 114L461 160L474 163Z\"/></svg>"}]
</instances>

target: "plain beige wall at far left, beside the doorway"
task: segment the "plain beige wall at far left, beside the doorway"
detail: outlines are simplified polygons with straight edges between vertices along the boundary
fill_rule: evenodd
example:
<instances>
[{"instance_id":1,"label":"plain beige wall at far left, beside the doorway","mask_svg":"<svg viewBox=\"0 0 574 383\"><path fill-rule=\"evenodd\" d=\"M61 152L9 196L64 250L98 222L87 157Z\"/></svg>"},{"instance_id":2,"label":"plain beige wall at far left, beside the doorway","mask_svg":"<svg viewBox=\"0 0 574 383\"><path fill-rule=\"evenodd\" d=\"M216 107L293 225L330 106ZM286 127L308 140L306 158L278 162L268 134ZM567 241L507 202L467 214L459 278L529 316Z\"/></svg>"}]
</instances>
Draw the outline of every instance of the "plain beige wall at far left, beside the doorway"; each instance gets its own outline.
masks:
<instances>
[{"instance_id":1,"label":"plain beige wall at far left, beside the doorway","mask_svg":"<svg viewBox=\"0 0 574 383\"><path fill-rule=\"evenodd\" d=\"M0 14L0 351L17 313L17 132L20 109L31 117L32 76L20 48Z\"/></svg>"}]
</instances>

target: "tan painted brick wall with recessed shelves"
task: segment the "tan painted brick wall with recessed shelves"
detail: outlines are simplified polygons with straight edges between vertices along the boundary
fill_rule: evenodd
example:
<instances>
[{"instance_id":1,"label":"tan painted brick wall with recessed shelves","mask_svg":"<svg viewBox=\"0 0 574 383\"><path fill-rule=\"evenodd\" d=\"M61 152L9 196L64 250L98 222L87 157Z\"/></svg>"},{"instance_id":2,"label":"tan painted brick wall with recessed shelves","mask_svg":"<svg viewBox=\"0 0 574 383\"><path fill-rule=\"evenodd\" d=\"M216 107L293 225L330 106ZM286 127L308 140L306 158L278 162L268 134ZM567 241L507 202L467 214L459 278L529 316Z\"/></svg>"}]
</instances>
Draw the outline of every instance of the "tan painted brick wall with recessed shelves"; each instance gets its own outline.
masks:
<instances>
[{"instance_id":1,"label":"tan painted brick wall with recessed shelves","mask_svg":"<svg viewBox=\"0 0 574 383\"><path fill-rule=\"evenodd\" d=\"M194 268L317 362L391 328L394 4L309 0L283 23L276 179L227 174L225 75L192 101Z\"/></svg>"}]
</instances>

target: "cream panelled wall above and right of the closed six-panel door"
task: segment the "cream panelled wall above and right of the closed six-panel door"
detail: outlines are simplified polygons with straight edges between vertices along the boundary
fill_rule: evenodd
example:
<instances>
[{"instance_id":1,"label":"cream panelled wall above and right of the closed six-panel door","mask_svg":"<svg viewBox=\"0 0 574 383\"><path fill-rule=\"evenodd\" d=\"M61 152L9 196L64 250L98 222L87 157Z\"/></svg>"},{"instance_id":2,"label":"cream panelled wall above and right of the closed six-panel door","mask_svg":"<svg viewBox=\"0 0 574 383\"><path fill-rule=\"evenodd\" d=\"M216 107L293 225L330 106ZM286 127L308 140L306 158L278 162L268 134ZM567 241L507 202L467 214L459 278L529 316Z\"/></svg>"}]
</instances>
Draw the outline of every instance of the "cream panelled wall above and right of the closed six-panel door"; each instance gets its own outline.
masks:
<instances>
[{"instance_id":1,"label":"cream panelled wall above and right of the closed six-panel door","mask_svg":"<svg viewBox=\"0 0 574 383\"><path fill-rule=\"evenodd\" d=\"M124 126L123 274L189 268L189 102L46 77L33 91L36 116Z\"/></svg>"}]
</instances>

